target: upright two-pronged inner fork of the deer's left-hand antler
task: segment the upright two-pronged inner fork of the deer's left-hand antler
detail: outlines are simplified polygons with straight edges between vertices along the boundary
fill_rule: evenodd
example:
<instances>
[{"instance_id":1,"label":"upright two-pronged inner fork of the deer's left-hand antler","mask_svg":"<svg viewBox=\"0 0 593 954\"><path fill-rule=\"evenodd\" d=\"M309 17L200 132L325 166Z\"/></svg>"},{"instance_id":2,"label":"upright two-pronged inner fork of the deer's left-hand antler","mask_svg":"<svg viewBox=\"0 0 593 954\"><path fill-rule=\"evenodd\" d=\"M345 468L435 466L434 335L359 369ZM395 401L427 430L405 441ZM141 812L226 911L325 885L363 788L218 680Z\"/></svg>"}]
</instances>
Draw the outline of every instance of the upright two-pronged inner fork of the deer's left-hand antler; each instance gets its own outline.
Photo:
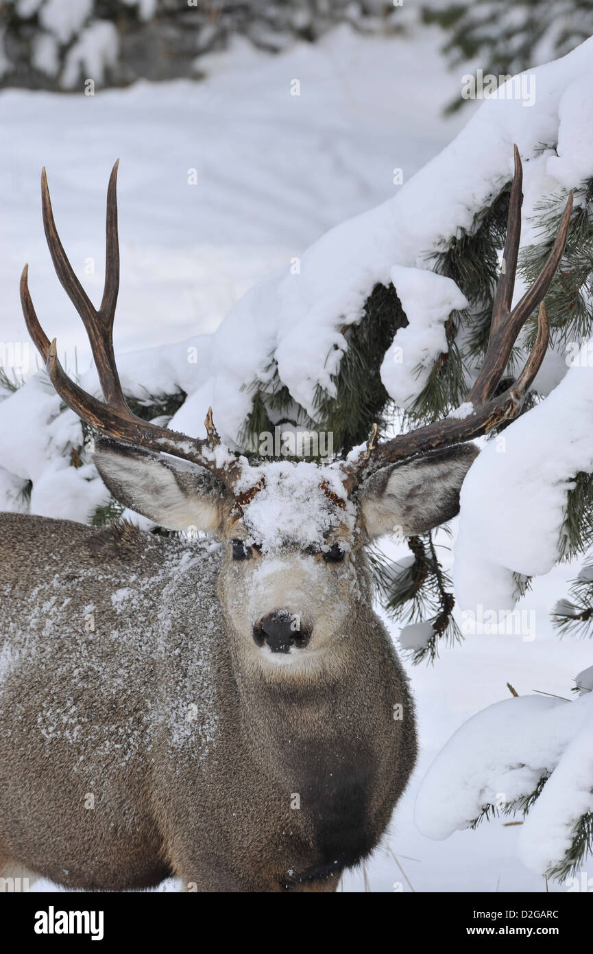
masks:
<instances>
[{"instance_id":1,"label":"upright two-pronged inner fork of the deer's left-hand antler","mask_svg":"<svg viewBox=\"0 0 593 954\"><path fill-rule=\"evenodd\" d=\"M92 357L97 369L99 384L103 396L108 404L126 408L119 375L114 361L112 328L115 314L115 304L119 291L119 242L117 239L117 166L115 162L110 176L107 193L107 223L106 223L106 256L105 256L105 286L103 300L98 311L76 278L72 265L64 251L64 246L55 226L51 209L50 190L45 167L41 173L41 204L43 210L43 227L48 240L51 261L56 275L66 294L72 301L85 326L89 342L91 342Z\"/></svg>"}]
</instances>

